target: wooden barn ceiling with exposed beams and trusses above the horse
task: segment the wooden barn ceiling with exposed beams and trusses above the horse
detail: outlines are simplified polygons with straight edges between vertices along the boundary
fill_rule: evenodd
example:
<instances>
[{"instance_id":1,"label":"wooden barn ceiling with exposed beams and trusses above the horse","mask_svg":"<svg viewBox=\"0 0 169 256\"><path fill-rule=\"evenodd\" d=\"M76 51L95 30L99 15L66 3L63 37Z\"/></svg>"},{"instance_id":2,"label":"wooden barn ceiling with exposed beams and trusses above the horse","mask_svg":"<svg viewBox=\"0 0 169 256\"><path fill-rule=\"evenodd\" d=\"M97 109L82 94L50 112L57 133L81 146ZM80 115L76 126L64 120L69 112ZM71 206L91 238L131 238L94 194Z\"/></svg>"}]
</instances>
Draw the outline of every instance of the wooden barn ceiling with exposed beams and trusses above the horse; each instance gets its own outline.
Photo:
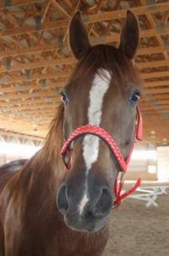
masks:
<instances>
[{"instance_id":1,"label":"wooden barn ceiling with exposed beams and trusses above the horse","mask_svg":"<svg viewBox=\"0 0 169 256\"><path fill-rule=\"evenodd\" d=\"M138 15L144 139L169 143L169 1L1 0L0 129L45 137L76 60L70 17L80 9L92 44L119 43L126 10Z\"/></svg>"}]
</instances>

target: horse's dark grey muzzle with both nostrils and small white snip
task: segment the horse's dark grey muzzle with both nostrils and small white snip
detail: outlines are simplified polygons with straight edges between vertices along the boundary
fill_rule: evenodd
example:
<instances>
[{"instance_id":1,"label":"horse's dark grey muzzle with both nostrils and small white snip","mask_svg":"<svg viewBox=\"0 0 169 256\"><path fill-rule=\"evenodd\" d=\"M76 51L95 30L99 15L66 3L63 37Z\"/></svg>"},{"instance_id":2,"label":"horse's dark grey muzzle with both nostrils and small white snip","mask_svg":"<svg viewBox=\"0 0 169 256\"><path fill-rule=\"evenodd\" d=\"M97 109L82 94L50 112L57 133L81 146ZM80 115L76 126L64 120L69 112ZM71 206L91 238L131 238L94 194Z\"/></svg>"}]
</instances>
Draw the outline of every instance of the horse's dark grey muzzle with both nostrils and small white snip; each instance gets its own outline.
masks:
<instances>
[{"instance_id":1,"label":"horse's dark grey muzzle with both nostrils and small white snip","mask_svg":"<svg viewBox=\"0 0 169 256\"><path fill-rule=\"evenodd\" d=\"M95 191L94 191L95 190ZM88 195L74 191L72 196L67 184L62 184L57 195L57 207L64 215L65 224L81 232L98 232L107 224L113 206L112 192L107 186L93 188ZM79 195L82 196L79 196Z\"/></svg>"}]
</instances>

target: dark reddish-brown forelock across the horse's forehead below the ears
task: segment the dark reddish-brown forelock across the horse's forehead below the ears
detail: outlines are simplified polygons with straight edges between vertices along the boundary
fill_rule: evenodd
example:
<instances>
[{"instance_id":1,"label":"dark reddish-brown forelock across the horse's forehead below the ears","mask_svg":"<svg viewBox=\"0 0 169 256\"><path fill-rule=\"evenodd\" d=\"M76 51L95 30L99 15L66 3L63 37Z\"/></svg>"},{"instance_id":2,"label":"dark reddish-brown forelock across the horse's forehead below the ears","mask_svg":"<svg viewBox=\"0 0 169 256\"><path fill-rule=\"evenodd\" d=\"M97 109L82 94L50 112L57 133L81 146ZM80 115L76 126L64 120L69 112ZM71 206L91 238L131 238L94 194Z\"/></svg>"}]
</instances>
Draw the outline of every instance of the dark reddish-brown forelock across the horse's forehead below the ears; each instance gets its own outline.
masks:
<instances>
[{"instance_id":1,"label":"dark reddish-brown forelock across the horse's forehead below the ears","mask_svg":"<svg viewBox=\"0 0 169 256\"><path fill-rule=\"evenodd\" d=\"M120 82L124 79L132 80L135 84L141 84L137 69L133 67L131 60L111 45L99 44L89 49L87 54L78 62L75 72L70 77L70 84L78 78L87 79L94 76L97 71L103 68L114 76L114 81L123 86Z\"/></svg>"}]
</instances>

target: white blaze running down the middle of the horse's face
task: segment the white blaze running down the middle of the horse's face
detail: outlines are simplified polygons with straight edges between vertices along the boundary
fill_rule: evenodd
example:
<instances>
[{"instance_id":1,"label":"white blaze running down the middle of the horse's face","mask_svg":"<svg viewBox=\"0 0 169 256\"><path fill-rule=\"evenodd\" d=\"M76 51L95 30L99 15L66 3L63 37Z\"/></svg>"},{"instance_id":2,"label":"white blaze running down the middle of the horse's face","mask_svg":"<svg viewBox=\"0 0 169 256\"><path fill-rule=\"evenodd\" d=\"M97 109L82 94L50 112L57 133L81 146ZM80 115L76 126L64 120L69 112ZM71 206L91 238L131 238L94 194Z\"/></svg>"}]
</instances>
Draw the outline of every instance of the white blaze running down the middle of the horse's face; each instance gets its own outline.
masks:
<instances>
[{"instance_id":1,"label":"white blaze running down the middle of the horse's face","mask_svg":"<svg viewBox=\"0 0 169 256\"><path fill-rule=\"evenodd\" d=\"M101 124L102 118L102 106L104 101L104 95L109 89L111 75L105 69L99 69L96 73L93 84L90 90L89 95L89 108L87 112L88 116L88 125L97 125ZM83 157L86 164L86 178L89 170L91 169L93 163L98 159L99 155L99 137L93 135L86 135L83 140ZM83 208L85 207L87 201L87 183L86 190L80 202L79 210L82 213Z\"/></svg>"}]
</instances>

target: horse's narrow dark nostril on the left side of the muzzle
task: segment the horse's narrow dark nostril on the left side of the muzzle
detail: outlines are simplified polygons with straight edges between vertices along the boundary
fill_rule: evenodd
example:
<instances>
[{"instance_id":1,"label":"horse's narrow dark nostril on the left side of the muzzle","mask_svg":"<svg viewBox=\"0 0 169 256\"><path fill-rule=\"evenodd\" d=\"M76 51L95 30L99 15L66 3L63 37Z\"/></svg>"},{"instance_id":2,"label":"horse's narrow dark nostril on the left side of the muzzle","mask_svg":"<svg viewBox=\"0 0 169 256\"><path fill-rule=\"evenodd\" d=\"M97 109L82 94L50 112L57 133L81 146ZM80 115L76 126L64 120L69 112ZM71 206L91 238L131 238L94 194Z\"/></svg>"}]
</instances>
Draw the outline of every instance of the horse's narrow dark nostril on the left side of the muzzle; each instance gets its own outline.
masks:
<instances>
[{"instance_id":1,"label":"horse's narrow dark nostril on the left side of the muzzle","mask_svg":"<svg viewBox=\"0 0 169 256\"><path fill-rule=\"evenodd\" d=\"M59 208L59 212L65 214L69 209L69 201L67 198L67 187L63 184L59 188L58 196L57 196L57 206Z\"/></svg>"}]
</instances>

